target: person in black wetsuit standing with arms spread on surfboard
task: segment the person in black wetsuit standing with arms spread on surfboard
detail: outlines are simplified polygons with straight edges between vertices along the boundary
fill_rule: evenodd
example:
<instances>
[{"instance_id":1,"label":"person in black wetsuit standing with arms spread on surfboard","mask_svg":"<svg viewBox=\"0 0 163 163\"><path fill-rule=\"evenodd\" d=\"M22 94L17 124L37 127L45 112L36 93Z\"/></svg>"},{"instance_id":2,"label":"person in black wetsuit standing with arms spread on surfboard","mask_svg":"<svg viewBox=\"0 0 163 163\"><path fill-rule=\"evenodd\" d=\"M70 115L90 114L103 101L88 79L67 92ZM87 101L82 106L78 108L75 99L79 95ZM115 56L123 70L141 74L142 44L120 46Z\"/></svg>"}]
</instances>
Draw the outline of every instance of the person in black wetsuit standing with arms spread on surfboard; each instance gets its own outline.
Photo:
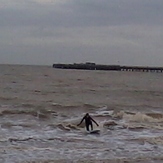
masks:
<instances>
[{"instance_id":1,"label":"person in black wetsuit standing with arms spread on surfboard","mask_svg":"<svg viewBox=\"0 0 163 163\"><path fill-rule=\"evenodd\" d=\"M83 120L85 120L85 126L86 126L87 131L89 131L89 125L91 126L91 130L93 130L92 121L97 126L99 126L98 123L88 113L82 118L81 122L77 126L79 126L83 122Z\"/></svg>"}]
</instances>

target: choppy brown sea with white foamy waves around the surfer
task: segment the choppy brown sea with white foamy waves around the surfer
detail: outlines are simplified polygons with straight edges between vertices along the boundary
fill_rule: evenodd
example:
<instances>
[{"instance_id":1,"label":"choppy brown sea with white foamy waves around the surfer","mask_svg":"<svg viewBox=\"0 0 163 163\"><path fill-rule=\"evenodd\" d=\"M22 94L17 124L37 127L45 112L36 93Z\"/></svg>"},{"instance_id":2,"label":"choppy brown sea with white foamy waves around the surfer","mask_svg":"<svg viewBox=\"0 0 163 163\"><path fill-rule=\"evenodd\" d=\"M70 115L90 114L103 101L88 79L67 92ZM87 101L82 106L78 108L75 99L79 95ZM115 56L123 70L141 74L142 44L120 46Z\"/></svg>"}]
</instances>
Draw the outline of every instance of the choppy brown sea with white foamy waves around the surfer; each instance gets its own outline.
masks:
<instances>
[{"instance_id":1,"label":"choppy brown sea with white foamy waves around the surfer","mask_svg":"<svg viewBox=\"0 0 163 163\"><path fill-rule=\"evenodd\" d=\"M163 73L0 65L0 162L162 163Z\"/></svg>"}]
</instances>

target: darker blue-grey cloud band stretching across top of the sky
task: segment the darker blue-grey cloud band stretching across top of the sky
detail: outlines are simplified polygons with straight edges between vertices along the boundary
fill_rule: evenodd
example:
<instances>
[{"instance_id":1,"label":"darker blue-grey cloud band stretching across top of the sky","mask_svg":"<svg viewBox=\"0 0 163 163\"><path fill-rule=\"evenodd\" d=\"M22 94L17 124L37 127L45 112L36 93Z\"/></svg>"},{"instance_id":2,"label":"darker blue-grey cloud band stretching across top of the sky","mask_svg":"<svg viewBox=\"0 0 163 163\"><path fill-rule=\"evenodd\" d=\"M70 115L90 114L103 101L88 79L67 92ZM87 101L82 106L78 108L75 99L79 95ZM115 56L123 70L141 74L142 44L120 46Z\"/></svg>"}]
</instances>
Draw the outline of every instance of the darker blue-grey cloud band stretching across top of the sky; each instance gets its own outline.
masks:
<instances>
[{"instance_id":1,"label":"darker blue-grey cloud band stretching across top of the sky","mask_svg":"<svg viewBox=\"0 0 163 163\"><path fill-rule=\"evenodd\" d=\"M73 0L64 4L38 5L27 2L0 10L2 25L18 26L104 26L162 24L161 0Z\"/></svg>"}]
</instances>

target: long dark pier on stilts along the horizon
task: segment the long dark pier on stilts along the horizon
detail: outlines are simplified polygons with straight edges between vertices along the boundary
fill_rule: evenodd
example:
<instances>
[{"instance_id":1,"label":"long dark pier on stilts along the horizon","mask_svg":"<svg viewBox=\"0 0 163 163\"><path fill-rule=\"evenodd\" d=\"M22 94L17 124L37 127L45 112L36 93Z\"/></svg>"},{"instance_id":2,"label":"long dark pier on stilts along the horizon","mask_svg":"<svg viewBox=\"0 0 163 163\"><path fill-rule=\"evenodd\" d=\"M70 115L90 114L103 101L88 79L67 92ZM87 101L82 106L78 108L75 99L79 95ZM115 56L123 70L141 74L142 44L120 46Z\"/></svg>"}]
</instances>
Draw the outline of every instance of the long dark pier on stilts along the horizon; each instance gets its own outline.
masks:
<instances>
[{"instance_id":1,"label":"long dark pier on stilts along the horizon","mask_svg":"<svg viewBox=\"0 0 163 163\"><path fill-rule=\"evenodd\" d=\"M110 70L110 71L140 71L140 72L163 72L163 67L99 65L92 62L74 64L53 64L53 68L78 69L78 70Z\"/></svg>"}]
</instances>

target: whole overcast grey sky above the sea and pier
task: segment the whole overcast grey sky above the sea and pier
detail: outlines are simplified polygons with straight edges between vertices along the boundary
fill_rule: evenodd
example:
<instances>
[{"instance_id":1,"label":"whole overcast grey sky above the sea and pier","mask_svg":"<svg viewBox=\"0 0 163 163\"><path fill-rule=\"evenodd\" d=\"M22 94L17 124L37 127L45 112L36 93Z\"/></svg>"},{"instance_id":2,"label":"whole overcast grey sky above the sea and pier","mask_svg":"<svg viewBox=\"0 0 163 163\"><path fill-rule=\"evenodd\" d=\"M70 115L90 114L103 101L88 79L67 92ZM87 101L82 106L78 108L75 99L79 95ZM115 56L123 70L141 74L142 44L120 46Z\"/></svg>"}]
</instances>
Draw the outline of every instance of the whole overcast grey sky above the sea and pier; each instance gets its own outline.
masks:
<instances>
[{"instance_id":1,"label":"whole overcast grey sky above the sea and pier","mask_svg":"<svg viewBox=\"0 0 163 163\"><path fill-rule=\"evenodd\" d=\"M163 0L0 0L0 64L163 66Z\"/></svg>"}]
</instances>

